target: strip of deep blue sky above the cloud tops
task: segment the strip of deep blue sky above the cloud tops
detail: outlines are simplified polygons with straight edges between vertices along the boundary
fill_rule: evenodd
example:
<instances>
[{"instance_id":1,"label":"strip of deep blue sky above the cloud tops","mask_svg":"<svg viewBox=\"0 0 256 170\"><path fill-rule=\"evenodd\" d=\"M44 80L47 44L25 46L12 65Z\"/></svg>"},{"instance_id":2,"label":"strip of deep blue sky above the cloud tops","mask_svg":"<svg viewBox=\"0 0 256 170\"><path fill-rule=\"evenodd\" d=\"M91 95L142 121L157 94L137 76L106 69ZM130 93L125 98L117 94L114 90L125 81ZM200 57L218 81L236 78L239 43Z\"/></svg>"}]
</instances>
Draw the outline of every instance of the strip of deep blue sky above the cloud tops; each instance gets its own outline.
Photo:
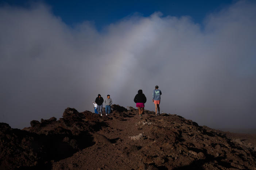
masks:
<instances>
[{"instance_id":1,"label":"strip of deep blue sky above the cloud tops","mask_svg":"<svg viewBox=\"0 0 256 170\"><path fill-rule=\"evenodd\" d=\"M22 6L29 8L31 3L43 2L51 7L54 15L71 27L82 21L92 21L100 31L110 23L115 23L120 19L139 13L147 17L154 12L161 12L164 16L191 16L195 23L201 24L205 16L219 11L226 6L235 3L235 0L170 0L170 1L152 1L152 0L1 0L1 5Z\"/></svg>"}]
</instances>

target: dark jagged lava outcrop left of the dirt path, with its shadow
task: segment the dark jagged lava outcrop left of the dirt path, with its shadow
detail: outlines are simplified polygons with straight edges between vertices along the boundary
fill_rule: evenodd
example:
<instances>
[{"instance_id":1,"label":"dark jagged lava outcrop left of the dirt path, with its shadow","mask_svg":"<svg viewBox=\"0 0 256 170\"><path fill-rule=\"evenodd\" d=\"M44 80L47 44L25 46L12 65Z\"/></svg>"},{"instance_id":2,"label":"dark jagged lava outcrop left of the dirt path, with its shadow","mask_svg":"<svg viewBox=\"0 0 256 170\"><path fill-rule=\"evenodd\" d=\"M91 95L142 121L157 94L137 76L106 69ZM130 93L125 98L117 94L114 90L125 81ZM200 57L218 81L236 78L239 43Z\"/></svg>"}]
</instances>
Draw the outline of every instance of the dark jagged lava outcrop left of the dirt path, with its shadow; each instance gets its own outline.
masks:
<instances>
[{"instance_id":1,"label":"dark jagged lava outcrop left of the dirt path, with its shadow","mask_svg":"<svg viewBox=\"0 0 256 170\"><path fill-rule=\"evenodd\" d=\"M79 113L67 108L60 120L55 117L41 119L41 122L33 120L26 130L11 129L8 124L0 123L0 169L47 168L47 161L70 157L78 150L93 145L89 131L106 126L96 117L99 118L91 112Z\"/></svg>"}]
</instances>

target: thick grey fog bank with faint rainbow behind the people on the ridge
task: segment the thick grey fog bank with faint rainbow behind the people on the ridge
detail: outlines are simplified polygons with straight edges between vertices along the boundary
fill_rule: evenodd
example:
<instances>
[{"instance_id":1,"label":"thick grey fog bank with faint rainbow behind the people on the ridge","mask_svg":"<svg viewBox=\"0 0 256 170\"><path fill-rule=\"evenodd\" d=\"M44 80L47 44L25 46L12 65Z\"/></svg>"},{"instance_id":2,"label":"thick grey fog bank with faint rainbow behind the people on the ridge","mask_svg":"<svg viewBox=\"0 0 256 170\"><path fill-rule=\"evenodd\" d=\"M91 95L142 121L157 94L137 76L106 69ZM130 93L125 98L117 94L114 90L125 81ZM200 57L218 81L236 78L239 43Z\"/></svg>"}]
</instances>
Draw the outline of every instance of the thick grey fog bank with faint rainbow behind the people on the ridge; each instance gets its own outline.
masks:
<instances>
[{"instance_id":1,"label":"thick grey fog bank with faint rainbow behind the people on the ridge","mask_svg":"<svg viewBox=\"0 0 256 170\"><path fill-rule=\"evenodd\" d=\"M0 7L0 122L12 128L93 111L98 93L133 106L139 89L154 110L210 128L256 128L256 3L238 1L205 16L139 14L98 32L70 27L46 4Z\"/></svg>"}]
</instances>

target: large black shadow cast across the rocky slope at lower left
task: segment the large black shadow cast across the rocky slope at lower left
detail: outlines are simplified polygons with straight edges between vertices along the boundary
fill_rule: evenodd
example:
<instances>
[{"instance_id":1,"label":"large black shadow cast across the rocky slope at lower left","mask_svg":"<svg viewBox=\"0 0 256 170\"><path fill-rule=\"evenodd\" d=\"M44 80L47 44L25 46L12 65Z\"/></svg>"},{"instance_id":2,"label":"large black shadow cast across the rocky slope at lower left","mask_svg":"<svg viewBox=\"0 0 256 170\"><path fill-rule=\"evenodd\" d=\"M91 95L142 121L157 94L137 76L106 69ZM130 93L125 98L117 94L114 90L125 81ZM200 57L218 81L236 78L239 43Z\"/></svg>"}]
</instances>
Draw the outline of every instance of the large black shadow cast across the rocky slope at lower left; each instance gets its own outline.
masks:
<instances>
[{"instance_id":1,"label":"large black shadow cast across the rocky slope at lower left","mask_svg":"<svg viewBox=\"0 0 256 170\"><path fill-rule=\"evenodd\" d=\"M41 134L37 140L33 141L33 147L39 147L41 152L38 154L38 164L36 166L23 166L19 169L51 169L51 160L59 161L71 157L79 150L94 145L93 137L91 134L84 132L79 135L63 135Z\"/></svg>"}]
</instances>

